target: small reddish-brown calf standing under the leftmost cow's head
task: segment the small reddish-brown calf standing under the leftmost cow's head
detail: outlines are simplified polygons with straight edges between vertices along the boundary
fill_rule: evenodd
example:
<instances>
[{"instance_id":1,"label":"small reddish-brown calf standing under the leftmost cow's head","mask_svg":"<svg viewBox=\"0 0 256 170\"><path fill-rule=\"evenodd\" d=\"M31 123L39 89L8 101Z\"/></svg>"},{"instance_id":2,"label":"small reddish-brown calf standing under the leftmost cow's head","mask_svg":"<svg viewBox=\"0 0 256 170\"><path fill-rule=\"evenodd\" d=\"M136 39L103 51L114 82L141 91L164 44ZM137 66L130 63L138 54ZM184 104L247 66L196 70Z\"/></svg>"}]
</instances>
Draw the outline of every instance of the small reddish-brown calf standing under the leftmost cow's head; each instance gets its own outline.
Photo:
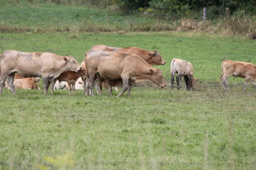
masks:
<instances>
[{"instance_id":1,"label":"small reddish-brown calf standing under the leftmost cow's head","mask_svg":"<svg viewBox=\"0 0 256 170\"><path fill-rule=\"evenodd\" d=\"M68 89L69 89L69 95L71 95L71 90L73 90L73 94L76 95L75 89L76 89L76 81L79 79L79 77L85 76L86 75L86 69L82 67L81 70L78 72L75 71L64 71L62 72L59 77L55 78L52 81L52 87L51 87L51 94L53 94L53 89L56 81L58 80L59 82L65 81L68 84ZM72 85L72 87L71 87Z\"/></svg>"}]
</instances>

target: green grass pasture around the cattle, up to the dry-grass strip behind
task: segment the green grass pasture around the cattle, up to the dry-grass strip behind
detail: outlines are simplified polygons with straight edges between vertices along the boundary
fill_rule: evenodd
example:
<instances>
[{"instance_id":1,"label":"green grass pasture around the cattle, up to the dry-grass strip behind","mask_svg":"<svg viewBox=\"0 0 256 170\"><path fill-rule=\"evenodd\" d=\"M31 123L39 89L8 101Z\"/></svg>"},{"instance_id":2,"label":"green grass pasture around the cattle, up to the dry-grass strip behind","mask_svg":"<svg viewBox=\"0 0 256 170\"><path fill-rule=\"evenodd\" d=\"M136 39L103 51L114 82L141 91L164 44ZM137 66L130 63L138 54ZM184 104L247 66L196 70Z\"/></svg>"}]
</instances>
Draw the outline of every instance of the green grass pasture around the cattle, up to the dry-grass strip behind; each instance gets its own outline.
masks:
<instances>
[{"instance_id":1,"label":"green grass pasture around the cattle, up to the dry-grass strip behind","mask_svg":"<svg viewBox=\"0 0 256 170\"><path fill-rule=\"evenodd\" d=\"M229 79L224 59L256 64L256 41L187 32L126 34L1 33L0 51L48 51L78 62L93 45L157 49L167 87L141 83L131 98L77 91L9 89L0 94L0 169L254 169L256 91ZM185 59L200 81L195 91L170 90L170 62ZM175 81L176 83L176 81ZM120 90L120 88L119 88Z\"/></svg>"}]
</instances>

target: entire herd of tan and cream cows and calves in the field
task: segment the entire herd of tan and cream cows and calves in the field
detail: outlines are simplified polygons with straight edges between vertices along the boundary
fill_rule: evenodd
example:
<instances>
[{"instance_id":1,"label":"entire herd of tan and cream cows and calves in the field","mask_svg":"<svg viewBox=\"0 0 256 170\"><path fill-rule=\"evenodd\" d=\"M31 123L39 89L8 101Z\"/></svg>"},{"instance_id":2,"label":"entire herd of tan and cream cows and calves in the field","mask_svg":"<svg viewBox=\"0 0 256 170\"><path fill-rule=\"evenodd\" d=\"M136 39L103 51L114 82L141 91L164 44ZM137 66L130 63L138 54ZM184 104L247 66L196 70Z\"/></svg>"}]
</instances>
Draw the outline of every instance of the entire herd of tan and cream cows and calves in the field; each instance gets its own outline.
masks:
<instances>
[{"instance_id":1,"label":"entire herd of tan and cream cows and calves in the field","mask_svg":"<svg viewBox=\"0 0 256 170\"><path fill-rule=\"evenodd\" d=\"M131 87L137 82L149 81L165 87L166 82L160 68L151 65L164 65L166 61L157 50L146 51L137 47L116 48L106 45L94 45L84 54L84 61L79 65L72 56L61 57L53 53L29 53L7 50L0 54L0 94L3 88L10 88L15 94L15 88L40 89L38 82L42 77L44 94L47 94L51 85L51 94L54 88L68 86L69 94L73 90L75 95L76 82L85 95L102 94L102 87L112 94L112 87L122 87L118 96L127 91L131 96ZM177 88L180 89L180 79L184 78L186 89L195 89L198 79L194 78L192 64L182 59L172 59L171 62L171 89L176 76ZM256 65L248 62L224 60L221 65L221 85L224 90L230 76L252 82L256 89ZM6 82L7 80L7 82ZM59 87L56 87L56 81ZM67 84L62 84L66 82ZM78 87L77 87L78 88Z\"/></svg>"}]
</instances>

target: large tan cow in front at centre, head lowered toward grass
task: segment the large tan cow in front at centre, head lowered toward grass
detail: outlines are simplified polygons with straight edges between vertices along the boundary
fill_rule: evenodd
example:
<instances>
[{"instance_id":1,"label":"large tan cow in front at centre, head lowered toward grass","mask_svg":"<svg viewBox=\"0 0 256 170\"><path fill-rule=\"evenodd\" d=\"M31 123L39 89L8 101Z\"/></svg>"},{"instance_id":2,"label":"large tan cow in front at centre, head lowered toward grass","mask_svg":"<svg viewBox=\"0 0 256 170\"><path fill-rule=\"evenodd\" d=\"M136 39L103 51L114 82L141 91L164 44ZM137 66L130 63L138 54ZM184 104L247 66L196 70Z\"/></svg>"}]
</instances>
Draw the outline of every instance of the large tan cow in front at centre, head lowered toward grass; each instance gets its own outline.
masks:
<instances>
[{"instance_id":1,"label":"large tan cow in front at centre, head lowered toward grass","mask_svg":"<svg viewBox=\"0 0 256 170\"><path fill-rule=\"evenodd\" d=\"M89 78L91 96L94 96L93 86L96 74L108 80L120 81L122 79L123 89L118 94L118 97L122 96L125 91L128 91L128 97L131 97L131 86L135 82L149 81L161 87L166 86L160 68L152 67L135 54L90 50L84 55L84 61L87 77ZM85 89L86 95L88 95L89 86L86 85Z\"/></svg>"}]
</instances>

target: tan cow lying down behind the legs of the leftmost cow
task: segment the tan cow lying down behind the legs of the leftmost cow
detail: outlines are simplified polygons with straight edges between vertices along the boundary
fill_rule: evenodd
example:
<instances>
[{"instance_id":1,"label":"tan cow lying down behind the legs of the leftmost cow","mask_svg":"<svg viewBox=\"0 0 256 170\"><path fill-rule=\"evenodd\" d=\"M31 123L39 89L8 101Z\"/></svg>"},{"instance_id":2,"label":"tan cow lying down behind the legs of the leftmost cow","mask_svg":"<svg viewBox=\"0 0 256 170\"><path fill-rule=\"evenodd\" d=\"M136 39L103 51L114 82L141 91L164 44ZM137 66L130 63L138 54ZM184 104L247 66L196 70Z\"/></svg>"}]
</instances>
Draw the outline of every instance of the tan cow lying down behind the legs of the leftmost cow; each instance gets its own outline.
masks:
<instances>
[{"instance_id":1,"label":"tan cow lying down behind the legs of the leftmost cow","mask_svg":"<svg viewBox=\"0 0 256 170\"><path fill-rule=\"evenodd\" d=\"M40 89L38 87L38 82L40 77L28 77L24 79L14 79L13 85L15 88L24 88L24 89ZM6 88L10 88L8 83L5 82Z\"/></svg>"}]
</instances>

